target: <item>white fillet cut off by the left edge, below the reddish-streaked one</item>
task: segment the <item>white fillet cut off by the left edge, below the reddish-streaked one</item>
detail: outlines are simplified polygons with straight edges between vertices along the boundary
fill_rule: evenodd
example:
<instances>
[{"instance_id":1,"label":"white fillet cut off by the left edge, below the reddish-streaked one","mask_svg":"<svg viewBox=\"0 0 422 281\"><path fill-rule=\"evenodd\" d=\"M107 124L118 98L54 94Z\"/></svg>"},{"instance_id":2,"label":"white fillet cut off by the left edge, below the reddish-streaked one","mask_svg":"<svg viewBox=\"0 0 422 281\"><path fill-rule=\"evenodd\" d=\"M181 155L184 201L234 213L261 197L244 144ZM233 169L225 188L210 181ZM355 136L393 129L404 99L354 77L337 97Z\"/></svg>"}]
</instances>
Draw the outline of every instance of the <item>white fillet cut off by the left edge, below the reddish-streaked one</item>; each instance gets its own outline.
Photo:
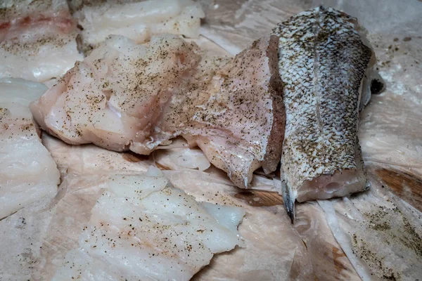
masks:
<instances>
[{"instance_id":1,"label":"white fillet cut off by the left edge, below the reddish-streaked one","mask_svg":"<svg viewBox=\"0 0 422 281\"><path fill-rule=\"evenodd\" d=\"M60 174L28 108L45 91L42 84L0 79L0 219L57 192Z\"/></svg>"}]
</instances>

